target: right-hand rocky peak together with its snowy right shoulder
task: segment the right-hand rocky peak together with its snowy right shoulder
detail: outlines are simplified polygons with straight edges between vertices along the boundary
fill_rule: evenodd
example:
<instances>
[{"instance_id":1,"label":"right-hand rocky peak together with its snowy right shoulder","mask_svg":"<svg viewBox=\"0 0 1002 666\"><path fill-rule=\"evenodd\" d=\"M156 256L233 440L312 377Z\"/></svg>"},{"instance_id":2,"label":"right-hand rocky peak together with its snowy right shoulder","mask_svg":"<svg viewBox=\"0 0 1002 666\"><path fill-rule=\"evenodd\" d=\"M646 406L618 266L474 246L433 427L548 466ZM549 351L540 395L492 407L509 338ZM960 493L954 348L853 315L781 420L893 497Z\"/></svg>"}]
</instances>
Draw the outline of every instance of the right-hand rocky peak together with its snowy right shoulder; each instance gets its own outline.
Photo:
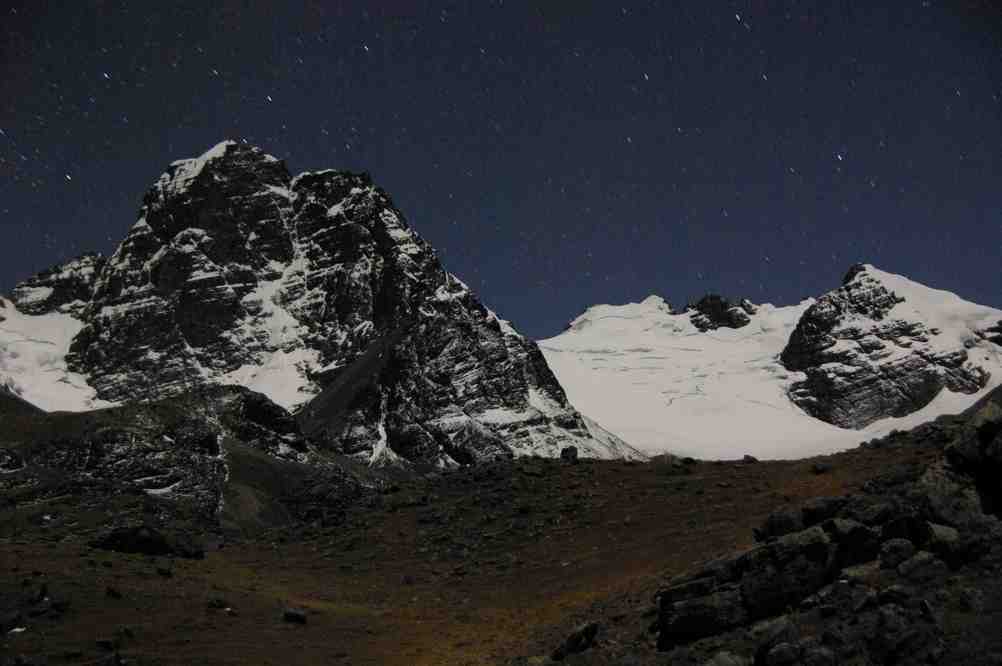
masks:
<instances>
[{"instance_id":1,"label":"right-hand rocky peak together with its snowy right shoulder","mask_svg":"<svg viewBox=\"0 0 1002 666\"><path fill-rule=\"evenodd\" d=\"M854 266L841 287L808 308L781 355L788 370L804 374L790 397L814 417L863 428L920 410L943 389L976 393L990 373L983 354L974 358L971 350L993 345L994 313Z\"/></svg>"}]
</instances>

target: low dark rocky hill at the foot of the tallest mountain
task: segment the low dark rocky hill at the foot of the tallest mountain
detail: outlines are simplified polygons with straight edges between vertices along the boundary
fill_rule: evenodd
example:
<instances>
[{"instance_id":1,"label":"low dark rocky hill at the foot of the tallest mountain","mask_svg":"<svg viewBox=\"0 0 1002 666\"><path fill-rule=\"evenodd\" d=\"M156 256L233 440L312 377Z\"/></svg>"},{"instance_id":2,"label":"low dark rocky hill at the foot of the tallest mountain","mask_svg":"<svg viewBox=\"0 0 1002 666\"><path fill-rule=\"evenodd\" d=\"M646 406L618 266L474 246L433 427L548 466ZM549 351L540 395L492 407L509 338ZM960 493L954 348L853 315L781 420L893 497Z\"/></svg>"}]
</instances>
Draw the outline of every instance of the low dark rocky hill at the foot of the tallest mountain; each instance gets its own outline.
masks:
<instances>
[{"instance_id":1,"label":"low dark rocky hill at the foot of the tallest mountain","mask_svg":"<svg viewBox=\"0 0 1002 666\"><path fill-rule=\"evenodd\" d=\"M241 387L85 413L0 402L0 495L29 515L33 506L72 498L74 511L99 519L65 526L77 534L128 534L141 525L246 533L296 519L335 522L379 485L319 450L284 409ZM59 526L57 511L46 515L39 519Z\"/></svg>"}]
</instances>

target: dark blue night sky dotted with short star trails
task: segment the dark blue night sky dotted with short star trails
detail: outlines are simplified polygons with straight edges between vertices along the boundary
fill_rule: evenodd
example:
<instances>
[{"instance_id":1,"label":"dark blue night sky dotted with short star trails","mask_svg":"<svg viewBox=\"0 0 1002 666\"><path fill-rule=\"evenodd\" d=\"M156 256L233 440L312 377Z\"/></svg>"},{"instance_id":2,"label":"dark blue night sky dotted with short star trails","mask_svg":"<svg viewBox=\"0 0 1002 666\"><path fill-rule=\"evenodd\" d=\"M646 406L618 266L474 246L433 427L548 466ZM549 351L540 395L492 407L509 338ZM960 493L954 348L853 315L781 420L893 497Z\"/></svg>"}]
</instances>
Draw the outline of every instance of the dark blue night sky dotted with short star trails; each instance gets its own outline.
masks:
<instances>
[{"instance_id":1,"label":"dark blue night sky dotted with short star trails","mask_svg":"<svg viewBox=\"0 0 1002 666\"><path fill-rule=\"evenodd\" d=\"M0 1L0 290L110 253L170 161L235 138L369 171L536 338L651 292L796 302L859 260L1002 306L1000 26L935 0Z\"/></svg>"}]
</instances>

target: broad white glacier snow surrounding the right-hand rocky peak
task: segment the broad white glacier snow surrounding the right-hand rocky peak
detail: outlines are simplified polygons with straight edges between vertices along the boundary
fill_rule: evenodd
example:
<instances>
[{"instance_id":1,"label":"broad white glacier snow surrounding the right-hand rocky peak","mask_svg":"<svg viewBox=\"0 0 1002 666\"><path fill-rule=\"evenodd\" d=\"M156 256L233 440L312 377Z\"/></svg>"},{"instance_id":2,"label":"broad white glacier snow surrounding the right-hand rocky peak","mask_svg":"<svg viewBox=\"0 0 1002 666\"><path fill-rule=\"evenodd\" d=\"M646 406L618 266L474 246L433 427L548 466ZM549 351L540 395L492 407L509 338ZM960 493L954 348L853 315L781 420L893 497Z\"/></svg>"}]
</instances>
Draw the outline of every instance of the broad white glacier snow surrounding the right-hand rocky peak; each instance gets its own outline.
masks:
<instances>
[{"instance_id":1,"label":"broad white glacier snow surrounding the right-hand rocky peak","mask_svg":"<svg viewBox=\"0 0 1002 666\"><path fill-rule=\"evenodd\" d=\"M870 268L906 298L890 316L922 320L942 330L936 345L968 341L972 363L992 373L979 394L942 392L923 410L885 419L861 431L814 419L793 405L789 373L779 355L811 304L759 306L742 328L699 332L684 313L671 314L657 296L639 303L596 305L568 330L539 343L546 362L582 414L647 454L671 452L703 459L762 459L822 455L858 446L894 429L963 411L1002 382L1002 349L977 341L974 328L1002 311Z\"/></svg>"}]
</instances>

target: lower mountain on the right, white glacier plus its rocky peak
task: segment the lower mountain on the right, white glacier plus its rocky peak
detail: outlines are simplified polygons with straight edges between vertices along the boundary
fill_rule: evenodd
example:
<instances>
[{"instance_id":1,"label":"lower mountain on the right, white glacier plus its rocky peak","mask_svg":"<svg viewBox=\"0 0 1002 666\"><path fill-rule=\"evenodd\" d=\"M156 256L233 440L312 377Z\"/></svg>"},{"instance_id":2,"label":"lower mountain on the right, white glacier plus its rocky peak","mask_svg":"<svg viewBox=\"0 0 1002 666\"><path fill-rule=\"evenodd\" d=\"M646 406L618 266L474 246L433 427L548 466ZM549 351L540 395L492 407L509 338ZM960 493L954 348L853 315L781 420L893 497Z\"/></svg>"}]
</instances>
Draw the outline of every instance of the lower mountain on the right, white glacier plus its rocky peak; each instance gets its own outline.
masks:
<instances>
[{"instance_id":1,"label":"lower mountain on the right, white glacier plus its rocky peak","mask_svg":"<svg viewBox=\"0 0 1002 666\"><path fill-rule=\"evenodd\" d=\"M1000 310L861 264L796 305L595 305L540 348L645 453L802 458L963 411L1002 382L1000 331Z\"/></svg>"}]
</instances>

